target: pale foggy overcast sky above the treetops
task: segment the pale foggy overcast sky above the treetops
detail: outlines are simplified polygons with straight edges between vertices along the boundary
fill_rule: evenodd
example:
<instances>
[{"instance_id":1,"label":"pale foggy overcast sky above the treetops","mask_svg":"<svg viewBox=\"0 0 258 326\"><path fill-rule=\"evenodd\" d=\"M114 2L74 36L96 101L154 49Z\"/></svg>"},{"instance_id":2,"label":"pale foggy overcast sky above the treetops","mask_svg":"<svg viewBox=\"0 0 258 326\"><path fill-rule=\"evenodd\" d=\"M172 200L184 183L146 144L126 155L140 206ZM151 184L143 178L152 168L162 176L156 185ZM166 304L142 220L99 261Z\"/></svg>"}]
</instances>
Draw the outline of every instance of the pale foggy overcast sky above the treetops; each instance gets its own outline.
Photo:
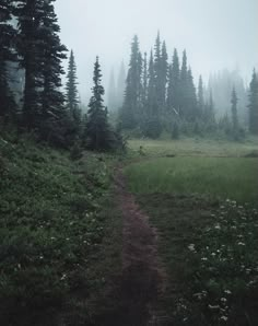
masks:
<instances>
[{"instance_id":1,"label":"pale foggy overcast sky above the treetops","mask_svg":"<svg viewBox=\"0 0 258 326\"><path fill-rule=\"evenodd\" d=\"M62 43L74 50L80 93L92 86L96 55L106 85L112 68L124 59L138 34L142 51L150 51L157 30L169 59L186 48L194 75L238 67L248 81L258 67L258 0L57 0Z\"/></svg>"}]
</instances>

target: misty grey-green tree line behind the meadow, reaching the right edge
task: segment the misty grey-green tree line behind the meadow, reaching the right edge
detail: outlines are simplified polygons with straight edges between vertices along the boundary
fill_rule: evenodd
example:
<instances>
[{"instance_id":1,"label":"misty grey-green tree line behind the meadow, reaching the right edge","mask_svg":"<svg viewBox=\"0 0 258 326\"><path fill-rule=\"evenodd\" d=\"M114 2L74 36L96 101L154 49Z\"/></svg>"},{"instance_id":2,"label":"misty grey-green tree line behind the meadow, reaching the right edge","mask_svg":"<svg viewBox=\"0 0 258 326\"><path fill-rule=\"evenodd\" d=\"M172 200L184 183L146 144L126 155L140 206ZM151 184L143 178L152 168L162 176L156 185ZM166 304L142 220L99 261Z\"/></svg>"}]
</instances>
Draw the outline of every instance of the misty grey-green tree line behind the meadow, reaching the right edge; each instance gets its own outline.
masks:
<instances>
[{"instance_id":1,"label":"misty grey-green tree line behind the meadow, reaching the right edge","mask_svg":"<svg viewBox=\"0 0 258 326\"><path fill-rule=\"evenodd\" d=\"M258 83L254 71L249 86L248 129L258 133ZM230 116L218 119L212 92L206 95L202 77L195 85L187 53L183 51L181 63L177 49L174 49L172 62L168 60L165 40L160 33L154 50L142 55L139 38L136 35L131 44L131 55L126 80L119 124L125 130L137 130L144 137L159 138L163 131L174 138L179 132L186 135L206 135L223 130L238 139L244 135L237 113L237 94L233 86ZM255 125L255 126L253 126Z\"/></svg>"}]
</instances>

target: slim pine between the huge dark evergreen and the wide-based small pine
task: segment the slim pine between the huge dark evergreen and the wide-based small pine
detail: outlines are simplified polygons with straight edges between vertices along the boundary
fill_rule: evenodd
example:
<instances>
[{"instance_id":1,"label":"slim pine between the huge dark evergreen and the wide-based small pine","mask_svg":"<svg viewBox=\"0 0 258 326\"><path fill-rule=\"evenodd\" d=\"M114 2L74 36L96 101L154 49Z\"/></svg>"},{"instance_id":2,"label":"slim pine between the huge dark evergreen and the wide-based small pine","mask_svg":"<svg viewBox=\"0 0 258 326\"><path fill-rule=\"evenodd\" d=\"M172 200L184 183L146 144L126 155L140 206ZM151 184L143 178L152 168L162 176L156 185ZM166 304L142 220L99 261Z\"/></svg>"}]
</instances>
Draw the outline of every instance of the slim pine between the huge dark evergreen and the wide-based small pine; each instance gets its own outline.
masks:
<instances>
[{"instance_id":1,"label":"slim pine between the huge dark evergreen and the wide-based small pine","mask_svg":"<svg viewBox=\"0 0 258 326\"><path fill-rule=\"evenodd\" d=\"M73 50L70 53L69 63L68 63L68 73L67 73L67 84L66 84L66 97L67 106L70 112L71 117L74 120L78 120L80 116L79 110L79 93L78 93L78 82L77 82L77 65L73 55Z\"/></svg>"}]
</instances>

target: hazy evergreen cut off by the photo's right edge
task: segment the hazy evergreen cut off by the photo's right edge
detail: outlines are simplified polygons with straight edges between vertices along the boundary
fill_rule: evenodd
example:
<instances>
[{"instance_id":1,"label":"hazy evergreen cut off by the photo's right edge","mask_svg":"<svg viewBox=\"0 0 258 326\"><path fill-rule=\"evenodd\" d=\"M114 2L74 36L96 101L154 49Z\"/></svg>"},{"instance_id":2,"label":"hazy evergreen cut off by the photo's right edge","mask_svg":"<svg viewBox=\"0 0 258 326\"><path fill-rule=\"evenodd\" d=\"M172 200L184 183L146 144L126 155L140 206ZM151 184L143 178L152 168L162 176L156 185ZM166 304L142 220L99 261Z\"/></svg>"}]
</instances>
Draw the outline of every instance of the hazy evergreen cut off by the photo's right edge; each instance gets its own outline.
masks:
<instances>
[{"instance_id":1,"label":"hazy evergreen cut off by the photo's right edge","mask_svg":"<svg viewBox=\"0 0 258 326\"><path fill-rule=\"evenodd\" d=\"M249 131L258 135L258 77L254 70L249 85Z\"/></svg>"}]
</instances>

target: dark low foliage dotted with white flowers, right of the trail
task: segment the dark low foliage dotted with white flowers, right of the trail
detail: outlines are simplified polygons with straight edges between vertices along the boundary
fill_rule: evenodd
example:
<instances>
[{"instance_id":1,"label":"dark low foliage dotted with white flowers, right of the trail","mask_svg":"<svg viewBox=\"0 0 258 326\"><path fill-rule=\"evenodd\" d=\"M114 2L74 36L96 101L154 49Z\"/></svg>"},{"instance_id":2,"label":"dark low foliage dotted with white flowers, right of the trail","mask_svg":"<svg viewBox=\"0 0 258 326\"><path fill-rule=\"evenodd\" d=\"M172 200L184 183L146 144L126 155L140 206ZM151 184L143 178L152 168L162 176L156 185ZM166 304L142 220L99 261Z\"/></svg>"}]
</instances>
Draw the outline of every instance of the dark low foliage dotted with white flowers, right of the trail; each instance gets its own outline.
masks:
<instances>
[{"instance_id":1,"label":"dark low foliage dotted with white flowers, right of the trail","mask_svg":"<svg viewBox=\"0 0 258 326\"><path fill-rule=\"evenodd\" d=\"M169 325L256 324L257 209L206 196L138 198L162 235L167 288L160 308Z\"/></svg>"}]
</instances>

